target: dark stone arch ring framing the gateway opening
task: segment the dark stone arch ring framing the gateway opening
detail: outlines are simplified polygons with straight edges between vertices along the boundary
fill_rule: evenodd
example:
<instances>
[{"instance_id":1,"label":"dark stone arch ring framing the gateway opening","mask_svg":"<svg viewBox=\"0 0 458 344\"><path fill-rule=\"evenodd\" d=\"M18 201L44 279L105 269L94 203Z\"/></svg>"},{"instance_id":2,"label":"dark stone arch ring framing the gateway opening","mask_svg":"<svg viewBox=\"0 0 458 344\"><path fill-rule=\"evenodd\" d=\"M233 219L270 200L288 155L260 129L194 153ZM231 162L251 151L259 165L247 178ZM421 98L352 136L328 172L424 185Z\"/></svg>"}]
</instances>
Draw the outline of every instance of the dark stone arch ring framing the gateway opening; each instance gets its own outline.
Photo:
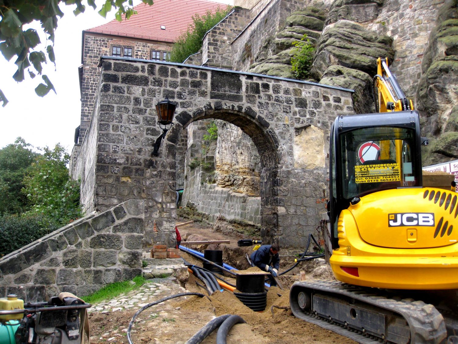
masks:
<instances>
[{"instance_id":1,"label":"dark stone arch ring framing the gateway opening","mask_svg":"<svg viewBox=\"0 0 458 344\"><path fill-rule=\"evenodd\" d=\"M246 133L256 146L261 161L261 236L264 243L277 240L278 212L277 200L274 195L278 194L276 183L278 164L280 159L278 151L278 135L268 126L256 119L256 113L251 108L239 109L235 105L221 101L209 101L204 108L192 113L181 111L177 114L177 124L169 130L166 140L170 146L167 148L172 156L175 155L176 144L180 139L181 131L192 122L204 119L219 119L239 127Z\"/></svg>"}]
</instances>

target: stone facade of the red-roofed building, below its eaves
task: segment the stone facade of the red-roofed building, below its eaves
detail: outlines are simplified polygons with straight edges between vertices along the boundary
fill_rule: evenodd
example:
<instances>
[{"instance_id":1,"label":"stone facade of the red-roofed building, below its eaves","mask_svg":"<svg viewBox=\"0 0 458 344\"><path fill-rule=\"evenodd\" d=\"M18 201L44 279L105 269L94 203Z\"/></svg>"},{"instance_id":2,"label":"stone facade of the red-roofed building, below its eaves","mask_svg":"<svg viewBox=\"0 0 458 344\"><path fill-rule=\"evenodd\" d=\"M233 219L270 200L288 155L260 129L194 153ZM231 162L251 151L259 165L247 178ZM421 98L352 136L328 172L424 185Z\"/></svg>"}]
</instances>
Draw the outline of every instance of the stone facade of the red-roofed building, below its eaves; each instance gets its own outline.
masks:
<instances>
[{"instance_id":1,"label":"stone facade of the red-roofed building, below its eaves","mask_svg":"<svg viewBox=\"0 0 458 344\"><path fill-rule=\"evenodd\" d=\"M93 113L97 86L100 79L100 69L97 66L101 56L111 55L111 45L131 47L133 49L133 58L145 60L150 59L150 50L169 51L172 46L171 43L154 43L151 41L142 41L141 39L119 39L89 31L83 32L83 35L80 144L89 128Z\"/></svg>"}]
</instances>

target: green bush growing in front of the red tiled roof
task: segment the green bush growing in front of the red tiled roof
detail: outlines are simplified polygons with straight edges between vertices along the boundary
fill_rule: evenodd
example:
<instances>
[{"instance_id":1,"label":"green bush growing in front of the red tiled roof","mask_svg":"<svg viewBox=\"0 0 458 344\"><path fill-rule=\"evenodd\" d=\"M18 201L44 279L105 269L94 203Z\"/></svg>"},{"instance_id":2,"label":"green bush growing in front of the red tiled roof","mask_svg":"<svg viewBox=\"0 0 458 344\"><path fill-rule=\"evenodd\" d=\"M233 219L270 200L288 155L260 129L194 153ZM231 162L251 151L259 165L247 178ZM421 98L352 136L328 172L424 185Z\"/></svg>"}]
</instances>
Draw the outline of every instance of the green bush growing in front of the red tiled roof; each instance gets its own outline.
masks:
<instances>
[{"instance_id":1,"label":"green bush growing in front of the red tiled roof","mask_svg":"<svg viewBox=\"0 0 458 344\"><path fill-rule=\"evenodd\" d=\"M188 31L182 34L174 43L170 52L171 62L183 62L188 56L195 54L202 47L202 39L208 30L213 28L218 22L224 19L230 11L230 6L225 10L220 9L215 14L207 11L205 15L199 16L196 14L192 17L192 24Z\"/></svg>"}]
</instances>

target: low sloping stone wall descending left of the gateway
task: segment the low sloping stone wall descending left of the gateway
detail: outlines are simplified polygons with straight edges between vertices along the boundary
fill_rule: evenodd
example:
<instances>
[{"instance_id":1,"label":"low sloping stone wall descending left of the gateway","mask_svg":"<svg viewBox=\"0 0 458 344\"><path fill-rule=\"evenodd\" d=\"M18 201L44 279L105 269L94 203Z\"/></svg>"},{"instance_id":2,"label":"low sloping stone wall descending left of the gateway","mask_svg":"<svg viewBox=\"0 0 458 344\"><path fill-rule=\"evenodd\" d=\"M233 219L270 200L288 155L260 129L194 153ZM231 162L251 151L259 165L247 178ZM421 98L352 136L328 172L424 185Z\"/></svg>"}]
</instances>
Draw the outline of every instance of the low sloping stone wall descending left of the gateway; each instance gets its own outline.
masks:
<instances>
[{"instance_id":1,"label":"low sloping stone wall descending left of the gateway","mask_svg":"<svg viewBox=\"0 0 458 344\"><path fill-rule=\"evenodd\" d=\"M92 294L142 274L144 201L92 213L0 260L0 297L43 302L60 292Z\"/></svg>"}]
</instances>

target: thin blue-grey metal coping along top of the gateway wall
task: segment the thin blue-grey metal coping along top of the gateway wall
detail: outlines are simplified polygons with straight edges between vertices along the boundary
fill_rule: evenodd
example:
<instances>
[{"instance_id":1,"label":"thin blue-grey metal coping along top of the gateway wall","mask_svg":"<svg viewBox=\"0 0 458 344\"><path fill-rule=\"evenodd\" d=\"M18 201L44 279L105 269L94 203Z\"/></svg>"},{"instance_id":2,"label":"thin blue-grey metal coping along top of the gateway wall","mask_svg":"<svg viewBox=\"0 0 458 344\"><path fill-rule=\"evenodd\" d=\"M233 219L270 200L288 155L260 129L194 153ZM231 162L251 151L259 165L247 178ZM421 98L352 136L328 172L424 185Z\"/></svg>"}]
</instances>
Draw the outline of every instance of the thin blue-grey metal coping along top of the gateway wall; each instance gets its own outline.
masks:
<instances>
[{"instance_id":1,"label":"thin blue-grey metal coping along top of the gateway wall","mask_svg":"<svg viewBox=\"0 0 458 344\"><path fill-rule=\"evenodd\" d=\"M220 69L220 68L205 67L205 66L187 65L187 64L184 64L184 63L143 60L143 59L137 59L137 58L133 58L133 57L101 56L100 57L100 63L98 64L98 67L102 67L102 60L105 60L105 59L132 61L132 62L144 62L144 63L156 63L156 64L169 65L169 66L178 66L178 67L186 67L186 68L192 67L192 68L196 68L196 69L204 69L204 70L207 70L207 71L216 71L216 72L227 72L227 73L234 73L234 74L251 75L251 76L254 76L254 77L258 77L258 78L270 78L270 79L276 79L276 80L290 81L290 82L293 82L293 83L305 83L305 84L308 84L308 85L315 85L315 86L325 87L325 88L328 88L328 89L338 89L338 90L341 90L341 91L354 92L353 89L344 89L342 87L324 85L322 83L312 83L310 81L304 81L304 80L280 78L280 77L274 77L274 76L270 76L270 75L256 74L256 73L250 73L250 72L232 71L232 70L229 70L229 69Z\"/></svg>"}]
</instances>

